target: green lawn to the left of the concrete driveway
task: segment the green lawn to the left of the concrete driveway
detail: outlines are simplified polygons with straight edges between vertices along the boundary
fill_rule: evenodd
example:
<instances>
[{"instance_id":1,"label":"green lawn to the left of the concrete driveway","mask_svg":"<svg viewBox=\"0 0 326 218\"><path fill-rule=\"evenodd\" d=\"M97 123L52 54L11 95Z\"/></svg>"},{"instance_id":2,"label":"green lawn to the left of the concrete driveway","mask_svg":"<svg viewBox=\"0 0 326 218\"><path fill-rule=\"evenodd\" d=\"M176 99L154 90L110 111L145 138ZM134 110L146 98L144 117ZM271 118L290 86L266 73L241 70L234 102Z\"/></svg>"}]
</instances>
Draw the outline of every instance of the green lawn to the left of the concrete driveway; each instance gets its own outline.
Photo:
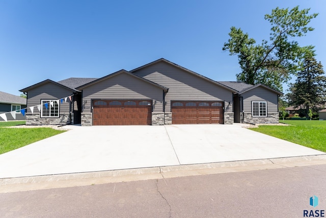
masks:
<instances>
[{"instance_id":1,"label":"green lawn to the left of the concrete driveway","mask_svg":"<svg viewBox=\"0 0 326 218\"><path fill-rule=\"evenodd\" d=\"M52 128L0 128L0 154L62 132L65 131Z\"/></svg>"}]
</instances>

